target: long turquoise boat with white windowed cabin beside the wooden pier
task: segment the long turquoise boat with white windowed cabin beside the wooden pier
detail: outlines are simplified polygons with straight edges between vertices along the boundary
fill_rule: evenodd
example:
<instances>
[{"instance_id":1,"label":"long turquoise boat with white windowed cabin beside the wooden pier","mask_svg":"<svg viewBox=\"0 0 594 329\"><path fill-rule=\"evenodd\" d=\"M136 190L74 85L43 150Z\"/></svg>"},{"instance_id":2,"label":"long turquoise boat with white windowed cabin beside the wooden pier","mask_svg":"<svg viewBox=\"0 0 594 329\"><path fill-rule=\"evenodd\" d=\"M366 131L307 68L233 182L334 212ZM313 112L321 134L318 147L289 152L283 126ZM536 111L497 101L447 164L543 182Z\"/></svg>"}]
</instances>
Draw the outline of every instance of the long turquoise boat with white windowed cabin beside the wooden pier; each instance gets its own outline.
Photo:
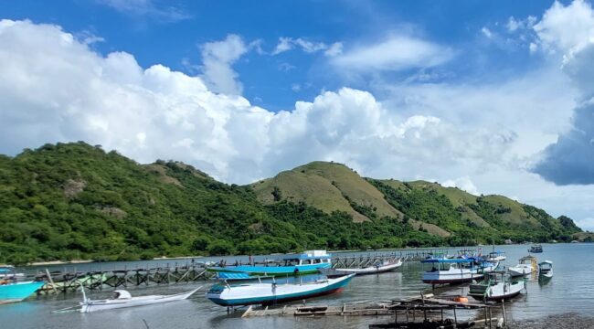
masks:
<instances>
[{"instance_id":1,"label":"long turquoise boat with white windowed cabin beside the wooden pier","mask_svg":"<svg viewBox=\"0 0 594 329\"><path fill-rule=\"evenodd\" d=\"M244 272L250 275L287 276L317 273L320 269L332 267L332 255L326 250L307 250L280 261L265 265L239 265L209 267L207 271Z\"/></svg>"}]
</instances>

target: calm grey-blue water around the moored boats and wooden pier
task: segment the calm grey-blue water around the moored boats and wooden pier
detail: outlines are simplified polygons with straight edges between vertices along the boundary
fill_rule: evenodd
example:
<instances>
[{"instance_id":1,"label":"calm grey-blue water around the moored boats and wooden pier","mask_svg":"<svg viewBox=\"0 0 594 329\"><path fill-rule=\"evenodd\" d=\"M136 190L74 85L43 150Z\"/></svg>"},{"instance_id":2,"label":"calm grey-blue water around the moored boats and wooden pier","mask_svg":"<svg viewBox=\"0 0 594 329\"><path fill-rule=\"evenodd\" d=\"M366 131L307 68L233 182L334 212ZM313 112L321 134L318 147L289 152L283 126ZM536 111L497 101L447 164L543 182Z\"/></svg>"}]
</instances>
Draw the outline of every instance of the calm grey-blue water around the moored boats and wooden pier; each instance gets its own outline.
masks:
<instances>
[{"instance_id":1,"label":"calm grey-blue water around the moored boats and wooden pier","mask_svg":"<svg viewBox=\"0 0 594 329\"><path fill-rule=\"evenodd\" d=\"M483 247L485 252L491 247ZM528 281L528 292L506 302L508 318L514 320L538 317L541 315L574 312L583 315L594 313L594 244L557 244L543 246L545 252L536 254L538 260L552 260L554 277L546 285L539 285L536 278ZM507 253L503 265L514 265L527 254L527 246L500 246ZM409 251L409 250L408 250ZM450 249L454 253L455 249ZM363 253L341 253L342 255L367 255ZM218 258L217 260L219 260ZM236 258L229 258L228 263ZM200 259L208 260L208 259ZM184 263L186 260L178 260ZM167 261L159 261L164 265ZM174 265L175 260L168 261ZM151 262L154 265L155 262ZM118 266L133 268L145 266L147 262L102 263L104 268ZM99 264L78 265L79 270L98 269ZM59 270L63 266L50 270ZM36 269L27 269L36 271ZM405 263L395 272L355 277L344 292L308 300L313 304L369 303L391 299L419 296L420 291L430 291L430 287L420 281L422 267L419 262ZM309 276L308 280L315 279ZM167 286L141 287L129 289L133 295L170 294L185 292L203 283L176 284ZM207 283L205 289L212 284ZM441 288L437 293L459 293L464 286ZM111 296L111 292L88 292L90 298L101 299ZM387 322L387 317L338 317L319 318L259 317L240 318L241 312L227 314L224 307L209 302L204 294L196 293L191 299L180 302L138 308L113 310L98 313L52 313L54 310L75 305L81 299L80 292L67 295L48 295L32 297L27 302L0 305L0 328L359 328L367 324ZM466 316L474 316L468 313Z\"/></svg>"}]
</instances>

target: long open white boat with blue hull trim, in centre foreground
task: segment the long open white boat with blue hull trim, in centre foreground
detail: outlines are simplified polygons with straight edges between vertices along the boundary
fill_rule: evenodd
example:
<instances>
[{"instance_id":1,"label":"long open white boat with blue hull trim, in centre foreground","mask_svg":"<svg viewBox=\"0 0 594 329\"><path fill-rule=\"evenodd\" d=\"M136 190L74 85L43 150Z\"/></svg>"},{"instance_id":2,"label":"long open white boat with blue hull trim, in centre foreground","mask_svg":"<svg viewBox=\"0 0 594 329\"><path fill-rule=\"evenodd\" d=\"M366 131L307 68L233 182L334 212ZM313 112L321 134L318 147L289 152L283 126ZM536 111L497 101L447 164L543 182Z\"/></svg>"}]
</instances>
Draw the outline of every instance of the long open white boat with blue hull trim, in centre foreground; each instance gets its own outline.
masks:
<instances>
[{"instance_id":1,"label":"long open white boat with blue hull trim, in centre foreground","mask_svg":"<svg viewBox=\"0 0 594 329\"><path fill-rule=\"evenodd\" d=\"M324 279L304 283L280 284L216 284L207 292L207 299L221 306L239 306L250 304L270 305L278 302L289 302L339 292L345 288L355 274L335 279Z\"/></svg>"}]
</instances>

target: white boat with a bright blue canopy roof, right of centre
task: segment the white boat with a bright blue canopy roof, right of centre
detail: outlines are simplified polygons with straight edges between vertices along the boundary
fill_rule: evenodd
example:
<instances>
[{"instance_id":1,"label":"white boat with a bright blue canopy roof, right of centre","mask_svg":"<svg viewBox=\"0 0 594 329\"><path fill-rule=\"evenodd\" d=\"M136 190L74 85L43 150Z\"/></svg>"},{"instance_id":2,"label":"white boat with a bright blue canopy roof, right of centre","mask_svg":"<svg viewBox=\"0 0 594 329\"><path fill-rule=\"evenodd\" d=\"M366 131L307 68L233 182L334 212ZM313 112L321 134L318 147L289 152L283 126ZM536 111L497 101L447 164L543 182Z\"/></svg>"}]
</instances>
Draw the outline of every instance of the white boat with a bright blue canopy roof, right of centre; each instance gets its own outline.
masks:
<instances>
[{"instance_id":1,"label":"white boat with a bright blue canopy roof, right of centre","mask_svg":"<svg viewBox=\"0 0 594 329\"><path fill-rule=\"evenodd\" d=\"M421 263L433 265L430 271L423 272L423 282L430 284L448 284L482 279L485 273L494 271L499 265L476 258L453 260L421 260Z\"/></svg>"}]
</instances>

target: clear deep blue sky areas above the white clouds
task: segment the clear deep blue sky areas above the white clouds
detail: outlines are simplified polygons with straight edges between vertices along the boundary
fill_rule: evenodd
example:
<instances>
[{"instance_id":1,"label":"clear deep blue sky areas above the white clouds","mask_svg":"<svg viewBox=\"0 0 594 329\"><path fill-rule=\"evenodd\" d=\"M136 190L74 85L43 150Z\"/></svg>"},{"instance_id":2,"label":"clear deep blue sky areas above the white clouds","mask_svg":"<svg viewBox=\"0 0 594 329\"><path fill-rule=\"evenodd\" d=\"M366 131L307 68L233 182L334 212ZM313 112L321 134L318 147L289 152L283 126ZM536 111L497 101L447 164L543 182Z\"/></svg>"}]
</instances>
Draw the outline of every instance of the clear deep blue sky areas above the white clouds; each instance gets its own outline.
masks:
<instances>
[{"instance_id":1,"label":"clear deep blue sky areas above the white clouds","mask_svg":"<svg viewBox=\"0 0 594 329\"><path fill-rule=\"evenodd\" d=\"M483 80L485 72L505 75L533 67L534 57L514 48L485 43L481 29L501 28L510 16L542 13L551 1L147 1L96 0L6 1L3 16L57 24L73 34L92 34L102 54L125 51L144 68L154 64L196 74L200 45L236 34L260 42L272 52L280 37L311 42L342 42L345 48L381 40L390 33L423 37L457 55L440 68L451 80ZM485 68L488 67L488 68ZM348 86L368 88L369 77L345 79L328 73L321 52L290 51L277 56L249 51L234 69L244 96L271 111L291 109L298 100L313 99L320 90ZM419 69L419 68L414 68ZM405 80L410 71L390 72L387 79ZM491 77L498 79L504 77ZM299 90L293 88L299 85ZM261 100L261 101L260 101Z\"/></svg>"}]
</instances>

